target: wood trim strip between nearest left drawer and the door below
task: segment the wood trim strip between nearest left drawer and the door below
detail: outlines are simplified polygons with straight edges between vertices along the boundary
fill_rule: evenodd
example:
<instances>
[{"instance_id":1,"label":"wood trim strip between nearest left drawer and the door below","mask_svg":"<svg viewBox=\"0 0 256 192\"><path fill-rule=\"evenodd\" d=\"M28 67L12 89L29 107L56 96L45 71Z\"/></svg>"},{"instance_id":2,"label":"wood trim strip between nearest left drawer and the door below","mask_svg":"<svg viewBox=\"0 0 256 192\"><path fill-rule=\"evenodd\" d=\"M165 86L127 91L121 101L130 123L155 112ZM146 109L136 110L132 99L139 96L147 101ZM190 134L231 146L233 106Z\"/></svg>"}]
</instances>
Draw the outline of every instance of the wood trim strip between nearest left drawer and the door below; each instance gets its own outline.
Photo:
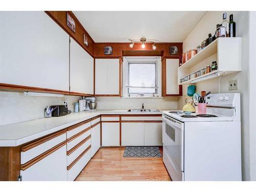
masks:
<instances>
[{"instance_id":1,"label":"wood trim strip between nearest left drawer and the door below","mask_svg":"<svg viewBox=\"0 0 256 192\"><path fill-rule=\"evenodd\" d=\"M41 155L35 157L34 159L31 159L27 163L20 165L20 170L26 170L27 168L31 167L32 165L34 165L38 161L44 159L48 155L50 155L53 152L57 151L59 148L61 148L64 145L66 145L66 141L63 141L63 142L59 143L58 145L54 146L50 150L46 151L45 153L42 153Z\"/></svg>"}]
</instances>

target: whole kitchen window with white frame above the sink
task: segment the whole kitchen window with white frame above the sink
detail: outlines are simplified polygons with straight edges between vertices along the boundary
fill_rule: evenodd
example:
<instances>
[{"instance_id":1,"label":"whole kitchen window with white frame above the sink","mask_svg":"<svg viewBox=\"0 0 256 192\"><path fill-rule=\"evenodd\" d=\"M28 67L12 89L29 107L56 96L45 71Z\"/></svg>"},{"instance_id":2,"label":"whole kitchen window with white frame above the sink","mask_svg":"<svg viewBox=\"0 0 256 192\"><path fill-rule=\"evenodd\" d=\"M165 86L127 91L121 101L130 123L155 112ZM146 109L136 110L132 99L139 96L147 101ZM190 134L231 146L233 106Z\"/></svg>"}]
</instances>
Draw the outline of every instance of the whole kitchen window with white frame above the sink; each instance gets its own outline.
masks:
<instances>
[{"instance_id":1,"label":"whole kitchen window with white frame above the sink","mask_svg":"<svg viewBox=\"0 0 256 192\"><path fill-rule=\"evenodd\" d=\"M161 97L161 57L124 57L123 97Z\"/></svg>"}]
</instances>

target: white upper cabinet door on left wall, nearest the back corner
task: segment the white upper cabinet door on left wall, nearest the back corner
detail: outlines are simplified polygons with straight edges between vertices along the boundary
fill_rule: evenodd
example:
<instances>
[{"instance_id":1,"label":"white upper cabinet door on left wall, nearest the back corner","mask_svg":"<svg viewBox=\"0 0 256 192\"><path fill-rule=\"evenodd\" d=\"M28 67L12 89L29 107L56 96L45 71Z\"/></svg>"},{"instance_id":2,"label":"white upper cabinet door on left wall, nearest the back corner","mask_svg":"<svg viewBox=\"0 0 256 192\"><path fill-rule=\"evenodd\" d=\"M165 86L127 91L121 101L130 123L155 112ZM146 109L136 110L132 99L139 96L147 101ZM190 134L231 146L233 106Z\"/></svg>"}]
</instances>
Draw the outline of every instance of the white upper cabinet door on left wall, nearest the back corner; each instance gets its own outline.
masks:
<instances>
[{"instance_id":1,"label":"white upper cabinet door on left wall, nearest the back corner","mask_svg":"<svg viewBox=\"0 0 256 192\"><path fill-rule=\"evenodd\" d=\"M93 94L93 57L70 38L70 92Z\"/></svg>"}]
</instances>

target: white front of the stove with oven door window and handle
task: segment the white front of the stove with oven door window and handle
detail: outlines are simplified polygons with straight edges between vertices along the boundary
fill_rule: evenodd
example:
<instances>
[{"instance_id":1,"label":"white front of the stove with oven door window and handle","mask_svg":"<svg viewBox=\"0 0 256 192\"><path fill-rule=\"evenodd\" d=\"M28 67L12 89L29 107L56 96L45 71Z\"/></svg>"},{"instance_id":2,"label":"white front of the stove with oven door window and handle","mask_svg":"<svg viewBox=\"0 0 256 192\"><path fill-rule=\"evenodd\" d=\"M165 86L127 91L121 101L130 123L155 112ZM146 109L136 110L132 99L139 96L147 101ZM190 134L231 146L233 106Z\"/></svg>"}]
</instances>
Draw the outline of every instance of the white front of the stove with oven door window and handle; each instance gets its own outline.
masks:
<instances>
[{"instance_id":1,"label":"white front of the stove with oven door window and handle","mask_svg":"<svg viewBox=\"0 0 256 192\"><path fill-rule=\"evenodd\" d=\"M184 123L174 118L162 115L163 117L163 146L164 159L169 161L168 166L177 173L170 173L173 177L177 175L177 179L182 176L184 171ZM166 162L164 162L166 164ZM169 171L169 170L168 170ZM172 172L172 171L171 171ZM180 179L178 179L180 180Z\"/></svg>"}]
</instances>

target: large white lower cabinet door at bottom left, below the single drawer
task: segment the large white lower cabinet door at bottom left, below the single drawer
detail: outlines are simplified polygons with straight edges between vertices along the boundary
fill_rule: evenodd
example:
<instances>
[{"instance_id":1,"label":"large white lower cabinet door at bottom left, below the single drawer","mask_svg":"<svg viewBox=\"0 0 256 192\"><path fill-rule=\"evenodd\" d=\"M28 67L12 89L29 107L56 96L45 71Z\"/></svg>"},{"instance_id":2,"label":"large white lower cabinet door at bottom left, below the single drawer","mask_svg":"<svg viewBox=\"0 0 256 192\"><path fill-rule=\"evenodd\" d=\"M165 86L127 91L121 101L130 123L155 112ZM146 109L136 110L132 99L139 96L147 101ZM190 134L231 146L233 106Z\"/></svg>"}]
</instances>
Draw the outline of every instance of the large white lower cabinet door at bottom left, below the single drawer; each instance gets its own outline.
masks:
<instances>
[{"instance_id":1,"label":"large white lower cabinet door at bottom left, below the single drawer","mask_svg":"<svg viewBox=\"0 0 256 192\"><path fill-rule=\"evenodd\" d=\"M67 181L66 144L20 171L22 181Z\"/></svg>"}]
</instances>

